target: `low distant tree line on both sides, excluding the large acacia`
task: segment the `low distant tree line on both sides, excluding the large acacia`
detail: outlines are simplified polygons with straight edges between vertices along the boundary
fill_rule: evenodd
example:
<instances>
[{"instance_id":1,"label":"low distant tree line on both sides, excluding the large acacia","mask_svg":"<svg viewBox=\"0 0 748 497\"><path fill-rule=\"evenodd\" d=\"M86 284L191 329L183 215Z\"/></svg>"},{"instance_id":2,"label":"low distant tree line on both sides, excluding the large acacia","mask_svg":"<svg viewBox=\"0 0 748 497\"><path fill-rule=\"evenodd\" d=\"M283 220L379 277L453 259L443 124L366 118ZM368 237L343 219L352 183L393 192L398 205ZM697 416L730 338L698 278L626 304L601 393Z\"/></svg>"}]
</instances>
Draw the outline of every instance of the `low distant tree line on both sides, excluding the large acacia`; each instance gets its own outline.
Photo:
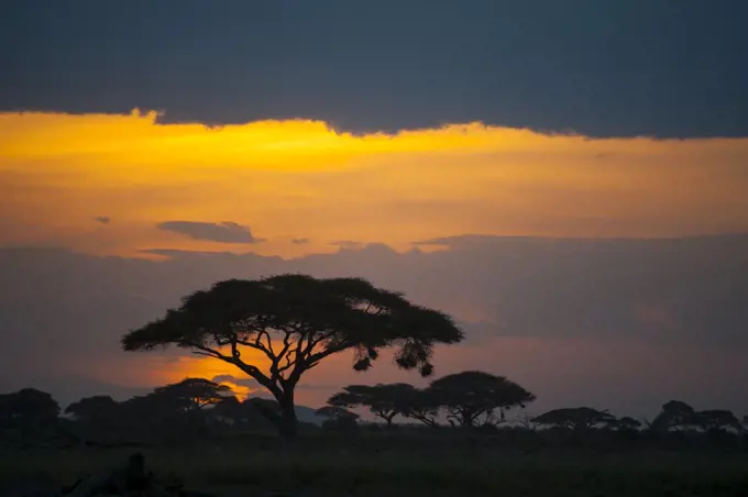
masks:
<instances>
[{"instance_id":1,"label":"low distant tree line on both sides, excluding the large acacia","mask_svg":"<svg viewBox=\"0 0 748 497\"><path fill-rule=\"evenodd\" d=\"M651 421L640 421L590 407L553 409L532 417L522 408L535 399L504 376L468 371L437 378L425 388L405 383L349 385L316 413L324 419L322 431L349 432L375 424L362 422L351 410L362 408L380 420L378 426L395 430L393 433L418 426L428 430L426 434L487 429L583 437L605 432L744 435L748 430L748 417L739 420L719 409L698 411L676 400L664 404ZM0 441L13 446L184 443L215 435L230 439L240 433L272 433L282 416L276 400L240 399L230 387L204 378L186 378L124 401L105 395L85 397L64 410L52 395L24 388L0 395ZM319 429L304 424L308 430Z\"/></svg>"}]
</instances>

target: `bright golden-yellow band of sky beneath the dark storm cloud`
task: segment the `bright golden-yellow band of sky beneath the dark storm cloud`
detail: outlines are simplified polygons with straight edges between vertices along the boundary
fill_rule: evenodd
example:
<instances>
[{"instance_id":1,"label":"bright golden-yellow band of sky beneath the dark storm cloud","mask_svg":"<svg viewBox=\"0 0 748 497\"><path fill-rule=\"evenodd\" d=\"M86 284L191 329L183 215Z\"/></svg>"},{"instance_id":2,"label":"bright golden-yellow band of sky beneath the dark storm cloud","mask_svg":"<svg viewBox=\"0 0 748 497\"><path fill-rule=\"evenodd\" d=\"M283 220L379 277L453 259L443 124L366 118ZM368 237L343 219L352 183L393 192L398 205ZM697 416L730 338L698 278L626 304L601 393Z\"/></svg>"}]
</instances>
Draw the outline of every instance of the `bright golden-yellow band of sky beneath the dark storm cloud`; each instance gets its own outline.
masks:
<instances>
[{"instance_id":1,"label":"bright golden-yellow band of sky beneath the dark storm cloud","mask_svg":"<svg viewBox=\"0 0 748 497\"><path fill-rule=\"evenodd\" d=\"M748 140L481 124L354 136L300 120L208 129L156 124L153 112L0 114L0 244L294 256L337 240L407 248L464 233L664 236L746 231L746 199ZM169 220L233 221L267 241L155 228Z\"/></svg>"}]
</instances>

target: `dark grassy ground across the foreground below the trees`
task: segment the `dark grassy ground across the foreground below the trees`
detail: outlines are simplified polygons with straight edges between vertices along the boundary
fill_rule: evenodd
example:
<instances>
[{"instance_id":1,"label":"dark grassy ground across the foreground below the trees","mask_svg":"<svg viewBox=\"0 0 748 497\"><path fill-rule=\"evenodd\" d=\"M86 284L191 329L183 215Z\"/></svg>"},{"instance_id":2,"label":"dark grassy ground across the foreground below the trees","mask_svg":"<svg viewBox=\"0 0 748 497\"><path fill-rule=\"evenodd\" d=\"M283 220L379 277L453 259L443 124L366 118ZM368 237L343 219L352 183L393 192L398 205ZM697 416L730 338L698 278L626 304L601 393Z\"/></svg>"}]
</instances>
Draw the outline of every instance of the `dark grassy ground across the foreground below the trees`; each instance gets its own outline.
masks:
<instances>
[{"instance_id":1,"label":"dark grassy ground across the foreground below the trees","mask_svg":"<svg viewBox=\"0 0 748 497\"><path fill-rule=\"evenodd\" d=\"M344 446L0 449L0 495L54 488L140 451L162 481L227 497L288 496L741 496L748 454L595 451L398 443Z\"/></svg>"}]
</instances>

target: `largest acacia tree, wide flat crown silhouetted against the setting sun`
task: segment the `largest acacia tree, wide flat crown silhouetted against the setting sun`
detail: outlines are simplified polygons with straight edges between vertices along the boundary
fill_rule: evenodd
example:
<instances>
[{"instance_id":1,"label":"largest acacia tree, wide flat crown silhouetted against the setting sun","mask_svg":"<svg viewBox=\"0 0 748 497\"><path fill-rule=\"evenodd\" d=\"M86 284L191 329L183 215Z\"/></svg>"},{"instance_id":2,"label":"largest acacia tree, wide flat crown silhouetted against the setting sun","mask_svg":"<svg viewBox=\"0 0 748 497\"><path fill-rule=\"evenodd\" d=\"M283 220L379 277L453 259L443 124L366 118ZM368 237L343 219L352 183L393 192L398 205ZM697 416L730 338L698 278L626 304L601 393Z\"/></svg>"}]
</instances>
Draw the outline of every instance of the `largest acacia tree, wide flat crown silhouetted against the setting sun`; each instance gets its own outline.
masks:
<instances>
[{"instance_id":1,"label":"largest acacia tree, wide flat crown silhouetted against the setting sun","mask_svg":"<svg viewBox=\"0 0 748 497\"><path fill-rule=\"evenodd\" d=\"M131 330L122 345L145 351L174 344L237 366L275 397L279 432L293 438L296 385L326 357L351 350L353 368L366 371L381 349L396 346L399 367L428 376L433 345L462 338L449 316L365 279L279 275L196 291L163 318ZM264 354L266 367L243 355L246 350Z\"/></svg>"}]
</instances>

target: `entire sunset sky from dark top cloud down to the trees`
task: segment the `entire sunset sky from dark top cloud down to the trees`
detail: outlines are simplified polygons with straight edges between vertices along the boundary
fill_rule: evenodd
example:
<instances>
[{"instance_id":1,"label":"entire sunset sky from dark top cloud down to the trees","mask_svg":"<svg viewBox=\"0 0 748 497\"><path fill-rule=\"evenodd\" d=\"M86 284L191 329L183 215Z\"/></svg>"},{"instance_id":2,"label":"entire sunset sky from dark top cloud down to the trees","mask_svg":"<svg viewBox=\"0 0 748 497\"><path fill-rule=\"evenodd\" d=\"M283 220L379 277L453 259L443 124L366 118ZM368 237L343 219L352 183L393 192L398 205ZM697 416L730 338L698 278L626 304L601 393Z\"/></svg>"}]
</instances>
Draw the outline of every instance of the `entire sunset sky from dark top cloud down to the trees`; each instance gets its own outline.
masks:
<instances>
[{"instance_id":1,"label":"entire sunset sky from dark top cloud down to the trees","mask_svg":"<svg viewBox=\"0 0 748 497\"><path fill-rule=\"evenodd\" d=\"M0 390L185 376L119 338L233 277L364 276L458 319L437 375L748 413L748 4L0 7ZM305 377L320 406L365 375ZM255 393L256 394L256 393Z\"/></svg>"}]
</instances>

